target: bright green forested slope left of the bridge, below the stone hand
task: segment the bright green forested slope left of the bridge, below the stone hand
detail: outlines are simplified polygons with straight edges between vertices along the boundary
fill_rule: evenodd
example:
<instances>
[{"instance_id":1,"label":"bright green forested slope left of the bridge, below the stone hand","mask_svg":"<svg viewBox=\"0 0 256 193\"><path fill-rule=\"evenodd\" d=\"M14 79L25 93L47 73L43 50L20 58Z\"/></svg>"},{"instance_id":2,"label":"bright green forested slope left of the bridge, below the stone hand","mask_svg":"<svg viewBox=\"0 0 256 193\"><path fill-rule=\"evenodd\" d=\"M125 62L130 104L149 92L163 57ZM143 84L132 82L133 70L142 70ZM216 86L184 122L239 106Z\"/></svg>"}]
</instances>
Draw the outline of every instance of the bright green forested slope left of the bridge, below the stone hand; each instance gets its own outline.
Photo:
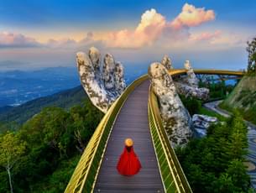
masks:
<instances>
[{"instance_id":1,"label":"bright green forested slope left of the bridge, below the stone hand","mask_svg":"<svg viewBox=\"0 0 256 193\"><path fill-rule=\"evenodd\" d=\"M65 102L76 99L58 104ZM1 133L0 192L63 192L101 119L87 98L69 110L44 108L17 131Z\"/></svg>"}]
</instances>

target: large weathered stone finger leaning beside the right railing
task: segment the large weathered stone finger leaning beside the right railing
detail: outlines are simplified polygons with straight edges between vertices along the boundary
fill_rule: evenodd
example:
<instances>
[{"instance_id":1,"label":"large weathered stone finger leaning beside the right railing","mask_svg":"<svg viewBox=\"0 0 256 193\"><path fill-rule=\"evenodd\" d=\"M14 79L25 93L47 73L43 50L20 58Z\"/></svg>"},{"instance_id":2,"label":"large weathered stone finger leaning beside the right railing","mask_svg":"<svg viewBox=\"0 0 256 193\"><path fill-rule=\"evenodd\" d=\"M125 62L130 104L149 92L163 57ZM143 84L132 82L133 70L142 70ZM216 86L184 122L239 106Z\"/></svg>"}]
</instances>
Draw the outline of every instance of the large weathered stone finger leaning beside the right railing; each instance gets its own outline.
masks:
<instances>
[{"instance_id":1,"label":"large weathered stone finger leaning beside the right railing","mask_svg":"<svg viewBox=\"0 0 256 193\"><path fill-rule=\"evenodd\" d=\"M149 66L148 73L153 91L159 99L160 114L172 146L187 143L193 134L191 116L180 101L168 70L155 62Z\"/></svg>"}]
</instances>

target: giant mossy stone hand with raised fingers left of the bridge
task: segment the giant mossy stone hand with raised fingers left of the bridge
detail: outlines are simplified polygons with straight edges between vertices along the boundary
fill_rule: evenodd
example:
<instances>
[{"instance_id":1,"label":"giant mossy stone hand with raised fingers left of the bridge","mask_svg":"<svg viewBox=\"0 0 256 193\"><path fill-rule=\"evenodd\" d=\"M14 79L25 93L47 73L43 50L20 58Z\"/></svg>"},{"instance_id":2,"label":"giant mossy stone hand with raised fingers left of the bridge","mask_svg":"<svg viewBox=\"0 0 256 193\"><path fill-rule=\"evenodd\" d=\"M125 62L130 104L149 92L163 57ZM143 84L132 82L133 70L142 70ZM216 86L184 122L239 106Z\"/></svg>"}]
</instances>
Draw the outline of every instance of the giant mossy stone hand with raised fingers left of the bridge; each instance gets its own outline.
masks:
<instances>
[{"instance_id":1,"label":"giant mossy stone hand with raised fingers left of the bridge","mask_svg":"<svg viewBox=\"0 0 256 193\"><path fill-rule=\"evenodd\" d=\"M104 57L101 71L101 54L97 48L91 47L88 54L78 52L76 64L81 85L94 106L106 113L126 85L123 79L123 65L115 62L112 55Z\"/></svg>"}]
</instances>

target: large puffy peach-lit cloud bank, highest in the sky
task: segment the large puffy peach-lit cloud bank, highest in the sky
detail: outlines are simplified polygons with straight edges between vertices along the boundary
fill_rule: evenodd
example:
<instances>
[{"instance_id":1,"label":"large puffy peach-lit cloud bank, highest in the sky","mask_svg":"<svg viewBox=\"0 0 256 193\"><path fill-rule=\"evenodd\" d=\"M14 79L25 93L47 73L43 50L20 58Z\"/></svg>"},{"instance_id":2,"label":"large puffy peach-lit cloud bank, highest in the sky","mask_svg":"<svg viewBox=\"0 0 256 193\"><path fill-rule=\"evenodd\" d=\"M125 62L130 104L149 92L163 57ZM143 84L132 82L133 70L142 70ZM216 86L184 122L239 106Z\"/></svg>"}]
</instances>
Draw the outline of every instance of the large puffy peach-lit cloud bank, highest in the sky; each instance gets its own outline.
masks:
<instances>
[{"instance_id":1,"label":"large puffy peach-lit cloud bank, highest in the sky","mask_svg":"<svg viewBox=\"0 0 256 193\"><path fill-rule=\"evenodd\" d=\"M206 23L214 18L213 10L195 8L187 3L183 6L182 12L171 21L167 21L163 15L152 8L143 13L136 29L111 32L107 35L105 42L107 47L134 49L152 45L158 39L162 39L163 43L166 40L184 40L190 36L188 31L190 27Z\"/></svg>"}]
</instances>

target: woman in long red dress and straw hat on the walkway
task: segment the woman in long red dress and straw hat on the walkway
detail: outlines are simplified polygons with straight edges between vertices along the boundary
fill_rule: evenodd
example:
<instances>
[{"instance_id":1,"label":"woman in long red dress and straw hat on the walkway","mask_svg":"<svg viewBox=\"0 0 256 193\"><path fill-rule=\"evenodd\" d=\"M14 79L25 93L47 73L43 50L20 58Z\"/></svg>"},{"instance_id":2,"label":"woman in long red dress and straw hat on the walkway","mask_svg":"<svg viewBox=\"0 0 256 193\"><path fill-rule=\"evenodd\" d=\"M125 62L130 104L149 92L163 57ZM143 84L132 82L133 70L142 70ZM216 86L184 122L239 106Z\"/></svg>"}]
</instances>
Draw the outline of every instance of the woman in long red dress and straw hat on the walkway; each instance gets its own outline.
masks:
<instances>
[{"instance_id":1,"label":"woman in long red dress and straw hat on the walkway","mask_svg":"<svg viewBox=\"0 0 256 193\"><path fill-rule=\"evenodd\" d=\"M141 169L141 164L133 151L132 138L125 139L124 144L123 154L121 154L117 165L118 172L120 175L136 175Z\"/></svg>"}]
</instances>

